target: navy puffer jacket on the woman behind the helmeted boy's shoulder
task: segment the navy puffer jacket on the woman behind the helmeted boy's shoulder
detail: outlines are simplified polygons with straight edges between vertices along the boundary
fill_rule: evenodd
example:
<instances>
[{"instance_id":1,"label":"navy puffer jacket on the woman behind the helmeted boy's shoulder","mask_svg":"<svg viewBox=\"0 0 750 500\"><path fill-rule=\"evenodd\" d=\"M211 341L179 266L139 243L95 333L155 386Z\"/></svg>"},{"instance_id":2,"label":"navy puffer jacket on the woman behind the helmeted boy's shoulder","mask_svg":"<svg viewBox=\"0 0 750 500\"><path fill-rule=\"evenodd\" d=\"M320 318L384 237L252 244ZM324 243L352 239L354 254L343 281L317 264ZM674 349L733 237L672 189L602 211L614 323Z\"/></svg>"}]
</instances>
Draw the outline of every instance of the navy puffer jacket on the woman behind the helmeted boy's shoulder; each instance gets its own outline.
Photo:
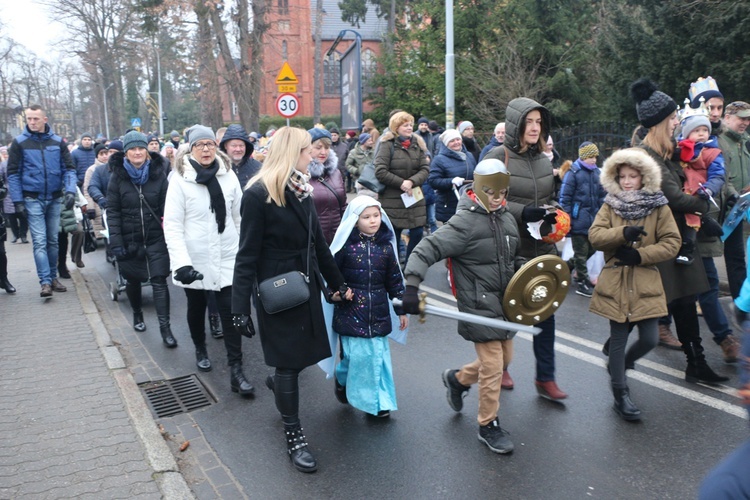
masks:
<instances>
[{"instance_id":1,"label":"navy puffer jacket on the woman behind the helmeted boy's shoulder","mask_svg":"<svg viewBox=\"0 0 750 500\"><path fill-rule=\"evenodd\" d=\"M474 156L462 149L466 158L461 158L458 152L448 149L440 143L440 153L430 164L430 176L427 182L437 194L435 218L440 222L447 222L456 213L458 198L453 192L453 178L462 177L465 180L474 179L474 168L477 166Z\"/></svg>"}]
</instances>

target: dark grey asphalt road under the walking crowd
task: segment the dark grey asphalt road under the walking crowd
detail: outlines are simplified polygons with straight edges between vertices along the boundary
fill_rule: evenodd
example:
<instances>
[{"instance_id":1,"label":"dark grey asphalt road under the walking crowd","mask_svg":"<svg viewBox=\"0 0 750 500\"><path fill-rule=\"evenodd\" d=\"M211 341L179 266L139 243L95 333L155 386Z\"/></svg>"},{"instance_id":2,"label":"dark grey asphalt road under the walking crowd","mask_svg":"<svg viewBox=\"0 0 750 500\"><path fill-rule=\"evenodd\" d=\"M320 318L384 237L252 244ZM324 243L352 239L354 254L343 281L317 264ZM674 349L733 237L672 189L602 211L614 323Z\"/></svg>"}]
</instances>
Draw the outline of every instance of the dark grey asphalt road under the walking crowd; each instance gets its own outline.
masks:
<instances>
[{"instance_id":1,"label":"dark grey asphalt road under the walking crowd","mask_svg":"<svg viewBox=\"0 0 750 500\"><path fill-rule=\"evenodd\" d=\"M86 257L102 278L90 286L114 279L103 255ZM431 300L454 305L442 264L433 266L424 285ZM180 346L162 346L150 290L144 290L149 330L139 335L145 350L130 356L135 363L152 359L167 378L199 373L185 295L177 287L171 291ZM101 300L106 290L99 292ZM125 294L119 299L129 319ZM448 406L441 373L471 361L474 349L456 333L455 322L434 317L412 322L407 345L391 343L399 409L390 419L338 403L333 382L317 367L302 373L300 417L318 459L315 474L297 472L286 456L273 395L263 384L271 369L257 338L243 340L245 372L256 386L256 397L246 400L229 391L223 342L209 336L214 370L199 377L218 402L192 417L250 498L695 497L706 472L748 437L734 391L737 367L722 362L702 325L709 362L731 377L727 386L686 383L684 355L657 347L628 372L643 420L624 422L612 411L600 352L608 322L588 312L588 301L571 290L557 315L557 380L570 395L564 404L537 396L531 337L516 337L510 367L516 388L502 392L499 414L515 443L510 455L496 455L477 440L476 388L461 413Z\"/></svg>"}]
</instances>

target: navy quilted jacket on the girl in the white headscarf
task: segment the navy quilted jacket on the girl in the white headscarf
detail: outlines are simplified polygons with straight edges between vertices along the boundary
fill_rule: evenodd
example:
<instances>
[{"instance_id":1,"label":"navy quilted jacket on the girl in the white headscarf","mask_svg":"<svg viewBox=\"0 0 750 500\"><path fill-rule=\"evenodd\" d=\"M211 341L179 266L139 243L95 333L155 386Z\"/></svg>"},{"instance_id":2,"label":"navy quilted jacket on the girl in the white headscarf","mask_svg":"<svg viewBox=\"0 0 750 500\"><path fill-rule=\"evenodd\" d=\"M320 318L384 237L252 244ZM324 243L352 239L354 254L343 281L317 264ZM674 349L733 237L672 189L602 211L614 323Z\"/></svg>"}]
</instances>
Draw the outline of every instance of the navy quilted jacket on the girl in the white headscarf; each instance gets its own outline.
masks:
<instances>
[{"instance_id":1,"label":"navy quilted jacket on the girl in the white headscarf","mask_svg":"<svg viewBox=\"0 0 750 500\"><path fill-rule=\"evenodd\" d=\"M355 227L334 258L354 292L350 302L335 303L334 330L365 338L391 333L390 299L403 297L404 280L388 227L381 225L375 236L363 235Z\"/></svg>"}]
</instances>

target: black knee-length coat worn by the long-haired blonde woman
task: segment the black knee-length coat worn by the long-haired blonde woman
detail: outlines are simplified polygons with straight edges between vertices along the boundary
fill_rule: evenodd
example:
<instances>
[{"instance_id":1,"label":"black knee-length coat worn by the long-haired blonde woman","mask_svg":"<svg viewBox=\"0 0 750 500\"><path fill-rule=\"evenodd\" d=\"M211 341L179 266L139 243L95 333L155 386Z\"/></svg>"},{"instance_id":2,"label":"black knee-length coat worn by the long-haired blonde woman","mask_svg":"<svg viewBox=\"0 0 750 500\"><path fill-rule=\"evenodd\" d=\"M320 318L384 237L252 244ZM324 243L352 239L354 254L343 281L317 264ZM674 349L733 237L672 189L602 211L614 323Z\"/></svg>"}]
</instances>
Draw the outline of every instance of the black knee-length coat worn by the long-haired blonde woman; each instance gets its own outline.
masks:
<instances>
[{"instance_id":1,"label":"black knee-length coat worn by the long-haired blonde woman","mask_svg":"<svg viewBox=\"0 0 750 500\"><path fill-rule=\"evenodd\" d=\"M302 203L286 190L286 206L268 203L265 186L256 182L242 196L240 249L234 266L232 313L250 314L256 284L289 271L306 269L307 225L312 212L310 300L277 314L258 301L258 330L268 366L302 369L331 356L320 293L323 283L333 290L344 284L333 260L311 197Z\"/></svg>"}]
</instances>

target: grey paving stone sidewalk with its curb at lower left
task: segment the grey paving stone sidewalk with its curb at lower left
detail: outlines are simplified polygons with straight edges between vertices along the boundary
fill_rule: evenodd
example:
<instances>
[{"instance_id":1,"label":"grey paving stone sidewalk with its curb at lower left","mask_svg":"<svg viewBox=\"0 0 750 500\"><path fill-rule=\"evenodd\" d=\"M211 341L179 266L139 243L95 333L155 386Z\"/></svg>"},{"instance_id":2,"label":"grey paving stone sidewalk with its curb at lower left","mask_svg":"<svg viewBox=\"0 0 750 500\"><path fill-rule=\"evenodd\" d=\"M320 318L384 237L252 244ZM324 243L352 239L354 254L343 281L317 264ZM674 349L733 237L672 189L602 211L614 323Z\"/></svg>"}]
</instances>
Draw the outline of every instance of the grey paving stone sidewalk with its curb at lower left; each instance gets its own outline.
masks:
<instances>
[{"instance_id":1,"label":"grey paving stone sidewalk with its curb at lower left","mask_svg":"<svg viewBox=\"0 0 750 500\"><path fill-rule=\"evenodd\" d=\"M193 498L81 274L45 301L32 245L6 251L0 498Z\"/></svg>"}]
</instances>

